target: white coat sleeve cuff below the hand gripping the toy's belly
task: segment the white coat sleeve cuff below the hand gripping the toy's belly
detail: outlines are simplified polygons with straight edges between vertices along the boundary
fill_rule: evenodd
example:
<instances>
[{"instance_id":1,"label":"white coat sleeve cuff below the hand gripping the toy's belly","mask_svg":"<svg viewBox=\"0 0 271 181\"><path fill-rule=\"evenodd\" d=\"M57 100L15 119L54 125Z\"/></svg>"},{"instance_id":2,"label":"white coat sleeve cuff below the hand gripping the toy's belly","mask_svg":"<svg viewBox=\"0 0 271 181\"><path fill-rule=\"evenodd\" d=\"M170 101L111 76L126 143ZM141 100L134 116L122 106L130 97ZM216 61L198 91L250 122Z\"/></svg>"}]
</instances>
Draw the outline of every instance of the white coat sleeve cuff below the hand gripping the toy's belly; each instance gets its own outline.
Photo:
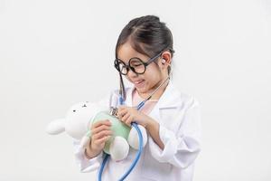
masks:
<instances>
[{"instance_id":1,"label":"white coat sleeve cuff below the hand gripping the toy's belly","mask_svg":"<svg viewBox=\"0 0 271 181\"><path fill-rule=\"evenodd\" d=\"M79 147L79 140L73 140L73 148L74 148L74 155L75 161L79 166L79 170L82 173L91 172L97 170L102 162L102 152L97 156L91 159L88 159L85 155L85 148Z\"/></svg>"}]
</instances>

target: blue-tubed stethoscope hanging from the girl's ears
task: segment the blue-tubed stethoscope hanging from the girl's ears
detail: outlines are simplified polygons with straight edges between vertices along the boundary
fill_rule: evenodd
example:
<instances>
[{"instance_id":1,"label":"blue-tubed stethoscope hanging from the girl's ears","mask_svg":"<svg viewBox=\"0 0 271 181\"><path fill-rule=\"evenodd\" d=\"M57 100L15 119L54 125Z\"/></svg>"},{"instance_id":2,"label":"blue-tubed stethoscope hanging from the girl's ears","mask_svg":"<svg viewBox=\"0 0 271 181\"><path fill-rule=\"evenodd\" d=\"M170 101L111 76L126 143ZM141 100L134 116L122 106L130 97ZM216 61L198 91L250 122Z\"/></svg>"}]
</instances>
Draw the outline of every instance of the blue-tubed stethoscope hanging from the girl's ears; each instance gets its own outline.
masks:
<instances>
[{"instance_id":1,"label":"blue-tubed stethoscope hanging from the girl's ears","mask_svg":"<svg viewBox=\"0 0 271 181\"><path fill-rule=\"evenodd\" d=\"M140 110L144 105L145 105L145 102L147 101L147 100L150 100L152 97L153 97L153 95L154 95L154 93L157 91L157 90L159 90L163 85L164 85L164 83L166 82L166 81L168 81L168 80L170 80L170 75L151 93L151 95L150 96L148 96L145 100L142 100L135 108L136 108L136 110ZM122 80L121 80L122 81ZM120 105L124 105L125 104L125 100L124 100L124 96L122 95L122 93L121 93L121 90L120 90L120 93L119 93L120 95L119 95L119 99L118 99L118 101L119 101L119 103L120 103ZM119 181L123 181L125 178L126 178L126 176L128 176L130 173L131 173L131 171L134 169L134 167L135 167L135 165L136 165L136 163L138 162L138 160L139 160L139 157L141 156L141 153L142 153L142 149L143 149L143 137L142 137L142 133L141 133L141 131L140 131L140 129L138 128L138 126L137 126L137 123L136 122L132 122L132 124L131 124L131 126L132 127L134 127L135 128L135 130L137 131L137 134L138 134L138 137L139 137L139 149L137 150L137 152L136 152L136 156L135 156L135 159L134 159L134 161L133 161L133 163L131 164L131 166L129 167L129 169L126 171L126 173L123 175L123 176L121 176L121 178L119 179ZM103 159L103 162L102 162L102 164L101 164L101 166L100 166L100 168L99 168L99 171L98 171L98 181L101 181L101 176L102 176L102 173L103 173L103 170L104 170L104 167L106 166L106 164L107 164L107 160L108 160L108 158L110 157L107 153L105 153L104 152L104 154L105 154L105 157L104 157L104 159Z\"/></svg>"}]
</instances>

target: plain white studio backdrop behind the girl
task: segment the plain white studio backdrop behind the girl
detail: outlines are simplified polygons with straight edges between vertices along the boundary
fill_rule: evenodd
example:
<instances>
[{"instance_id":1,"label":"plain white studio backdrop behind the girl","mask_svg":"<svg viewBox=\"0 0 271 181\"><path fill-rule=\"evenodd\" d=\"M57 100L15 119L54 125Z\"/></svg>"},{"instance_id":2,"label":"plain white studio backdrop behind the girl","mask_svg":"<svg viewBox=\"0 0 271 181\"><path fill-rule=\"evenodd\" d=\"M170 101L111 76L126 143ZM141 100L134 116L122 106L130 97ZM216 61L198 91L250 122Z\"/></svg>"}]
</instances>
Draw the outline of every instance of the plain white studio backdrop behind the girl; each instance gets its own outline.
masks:
<instances>
[{"instance_id":1,"label":"plain white studio backdrop behind the girl","mask_svg":"<svg viewBox=\"0 0 271 181\"><path fill-rule=\"evenodd\" d=\"M0 0L1 181L94 180L44 129L117 88L117 36L145 14L172 29L173 81L201 102L194 180L271 180L270 1Z\"/></svg>"}]
</instances>

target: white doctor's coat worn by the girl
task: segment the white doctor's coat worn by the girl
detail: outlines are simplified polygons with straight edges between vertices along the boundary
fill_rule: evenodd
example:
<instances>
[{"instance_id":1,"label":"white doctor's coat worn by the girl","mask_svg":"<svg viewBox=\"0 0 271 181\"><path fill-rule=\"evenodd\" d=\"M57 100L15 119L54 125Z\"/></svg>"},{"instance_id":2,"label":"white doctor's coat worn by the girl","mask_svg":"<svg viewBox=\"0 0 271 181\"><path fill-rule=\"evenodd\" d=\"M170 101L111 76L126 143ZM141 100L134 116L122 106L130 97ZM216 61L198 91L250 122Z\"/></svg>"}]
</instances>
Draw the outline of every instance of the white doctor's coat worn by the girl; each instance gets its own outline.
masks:
<instances>
[{"instance_id":1,"label":"white doctor's coat worn by the girl","mask_svg":"<svg viewBox=\"0 0 271 181\"><path fill-rule=\"evenodd\" d=\"M126 89L126 106L132 106L132 91ZM102 105L118 106L118 91L113 91L101 100ZM197 100L183 94L173 87L170 81L162 97L158 100L149 116L159 122L159 135L164 143L160 149L153 138L148 136L147 144L137 165L126 180L166 180L192 181L195 158L200 152L201 115ZM76 161L81 172L97 170L102 162L102 154L88 159L79 141L74 140ZM107 161L102 180L118 180L130 167L136 150L130 148L128 157L120 162ZM97 174L98 175L98 174Z\"/></svg>"}]
</instances>

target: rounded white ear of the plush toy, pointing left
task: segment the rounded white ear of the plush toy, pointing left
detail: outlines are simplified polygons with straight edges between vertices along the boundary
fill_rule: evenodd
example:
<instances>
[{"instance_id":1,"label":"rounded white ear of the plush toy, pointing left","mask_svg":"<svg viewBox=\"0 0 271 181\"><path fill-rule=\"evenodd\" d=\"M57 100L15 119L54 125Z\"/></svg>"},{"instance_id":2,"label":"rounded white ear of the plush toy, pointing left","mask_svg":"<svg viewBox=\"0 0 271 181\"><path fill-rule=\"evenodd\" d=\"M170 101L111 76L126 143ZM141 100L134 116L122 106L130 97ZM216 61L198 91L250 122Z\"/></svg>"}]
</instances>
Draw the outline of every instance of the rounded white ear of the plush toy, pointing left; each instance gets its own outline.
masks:
<instances>
[{"instance_id":1,"label":"rounded white ear of the plush toy, pointing left","mask_svg":"<svg viewBox=\"0 0 271 181\"><path fill-rule=\"evenodd\" d=\"M57 135L65 131L66 119L55 119L49 123L46 128L46 132L50 135Z\"/></svg>"}]
</instances>

